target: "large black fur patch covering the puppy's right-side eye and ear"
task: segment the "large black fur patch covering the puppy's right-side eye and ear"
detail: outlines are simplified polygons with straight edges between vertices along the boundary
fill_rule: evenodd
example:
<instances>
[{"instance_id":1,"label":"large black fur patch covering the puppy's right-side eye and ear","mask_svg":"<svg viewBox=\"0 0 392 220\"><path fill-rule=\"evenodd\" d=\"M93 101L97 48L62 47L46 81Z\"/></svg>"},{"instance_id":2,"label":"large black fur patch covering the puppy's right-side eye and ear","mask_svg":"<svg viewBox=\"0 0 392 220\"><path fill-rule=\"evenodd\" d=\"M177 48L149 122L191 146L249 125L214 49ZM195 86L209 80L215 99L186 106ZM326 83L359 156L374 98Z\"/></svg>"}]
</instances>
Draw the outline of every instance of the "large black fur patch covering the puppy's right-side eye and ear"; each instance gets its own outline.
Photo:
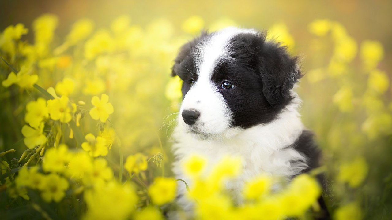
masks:
<instances>
[{"instance_id":1,"label":"large black fur patch covering the puppy's right-side eye and ear","mask_svg":"<svg viewBox=\"0 0 392 220\"><path fill-rule=\"evenodd\" d=\"M296 58L285 47L265 41L265 34L238 34L221 59L211 80L220 87L223 81L235 85L220 89L233 113L233 126L249 128L273 121L292 100L290 90L299 78Z\"/></svg>"}]
</instances>

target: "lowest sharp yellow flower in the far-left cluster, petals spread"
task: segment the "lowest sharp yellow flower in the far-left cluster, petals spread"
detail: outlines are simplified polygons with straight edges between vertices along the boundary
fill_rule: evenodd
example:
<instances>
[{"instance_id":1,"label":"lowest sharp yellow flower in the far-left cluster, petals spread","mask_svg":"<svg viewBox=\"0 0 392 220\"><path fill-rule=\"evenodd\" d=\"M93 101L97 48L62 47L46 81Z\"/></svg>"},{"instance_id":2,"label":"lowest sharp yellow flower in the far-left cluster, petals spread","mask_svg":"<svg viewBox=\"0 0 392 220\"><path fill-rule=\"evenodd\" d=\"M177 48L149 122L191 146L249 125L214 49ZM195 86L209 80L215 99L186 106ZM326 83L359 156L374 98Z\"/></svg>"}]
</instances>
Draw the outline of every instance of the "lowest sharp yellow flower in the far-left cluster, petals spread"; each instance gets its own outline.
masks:
<instances>
[{"instance_id":1,"label":"lowest sharp yellow flower in the far-left cluster, petals spread","mask_svg":"<svg viewBox=\"0 0 392 220\"><path fill-rule=\"evenodd\" d=\"M28 148L34 148L46 142L46 136L43 134L44 127L45 124L43 122L37 128L32 128L28 125L22 127L22 134L25 136L23 141Z\"/></svg>"}]
</instances>

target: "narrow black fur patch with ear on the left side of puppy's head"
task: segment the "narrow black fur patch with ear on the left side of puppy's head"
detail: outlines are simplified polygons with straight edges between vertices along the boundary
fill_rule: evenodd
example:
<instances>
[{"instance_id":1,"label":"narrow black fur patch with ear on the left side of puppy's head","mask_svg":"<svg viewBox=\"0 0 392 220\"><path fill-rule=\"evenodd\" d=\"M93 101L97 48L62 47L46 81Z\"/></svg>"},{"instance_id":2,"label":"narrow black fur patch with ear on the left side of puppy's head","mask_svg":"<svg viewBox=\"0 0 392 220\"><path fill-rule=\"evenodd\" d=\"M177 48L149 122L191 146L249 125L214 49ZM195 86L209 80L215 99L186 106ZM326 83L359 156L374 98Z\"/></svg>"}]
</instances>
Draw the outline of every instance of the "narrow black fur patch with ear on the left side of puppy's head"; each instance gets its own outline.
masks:
<instances>
[{"instance_id":1,"label":"narrow black fur patch with ear on the left side of puppy's head","mask_svg":"<svg viewBox=\"0 0 392 220\"><path fill-rule=\"evenodd\" d=\"M205 41L207 36L207 32L202 32L199 37L184 44L174 60L172 76L179 76L183 81L181 87L182 99L184 99L185 94L191 88L192 80L196 81L198 79L196 64L197 59L200 57L200 51L197 45Z\"/></svg>"}]
</instances>

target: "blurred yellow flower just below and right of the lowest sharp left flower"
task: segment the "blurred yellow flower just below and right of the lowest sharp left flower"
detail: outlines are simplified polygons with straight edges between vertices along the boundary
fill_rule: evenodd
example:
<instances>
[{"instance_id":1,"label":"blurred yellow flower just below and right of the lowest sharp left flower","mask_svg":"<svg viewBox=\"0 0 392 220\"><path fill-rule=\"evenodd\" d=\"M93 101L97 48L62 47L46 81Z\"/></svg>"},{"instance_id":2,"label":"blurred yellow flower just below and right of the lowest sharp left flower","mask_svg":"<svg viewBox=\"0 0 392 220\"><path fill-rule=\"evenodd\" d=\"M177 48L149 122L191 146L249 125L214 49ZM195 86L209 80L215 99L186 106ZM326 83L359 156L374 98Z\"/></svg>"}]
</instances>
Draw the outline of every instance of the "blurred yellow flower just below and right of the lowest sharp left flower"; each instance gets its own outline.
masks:
<instances>
[{"instance_id":1,"label":"blurred yellow flower just below and right of the lowest sharp left flower","mask_svg":"<svg viewBox=\"0 0 392 220\"><path fill-rule=\"evenodd\" d=\"M65 144L60 144L58 148L50 148L45 152L42 169L45 172L63 173L71 157Z\"/></svg>"}]
</instances>

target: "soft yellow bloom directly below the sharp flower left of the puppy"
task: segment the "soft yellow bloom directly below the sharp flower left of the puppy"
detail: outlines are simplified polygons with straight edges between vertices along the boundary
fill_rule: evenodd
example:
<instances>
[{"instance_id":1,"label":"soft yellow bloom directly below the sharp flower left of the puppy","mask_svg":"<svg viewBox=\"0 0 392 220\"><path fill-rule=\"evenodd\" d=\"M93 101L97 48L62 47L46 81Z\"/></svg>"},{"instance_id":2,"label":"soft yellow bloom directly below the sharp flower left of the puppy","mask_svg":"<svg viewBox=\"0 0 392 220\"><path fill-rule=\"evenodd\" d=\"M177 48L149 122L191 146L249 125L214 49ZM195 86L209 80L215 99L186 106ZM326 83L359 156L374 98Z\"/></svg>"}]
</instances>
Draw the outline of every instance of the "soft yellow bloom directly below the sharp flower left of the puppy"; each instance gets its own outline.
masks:
<instances>
[{"instance_id":1,"label":"soft yellow bloom directly below the sharp flower left of the puppy","mask_svg":"<svg viewBox=\"0 0 392 220\"><path fill-rule=\"evenodd\" d=\"M102 182L113 179L113 171L107 166L107 160L97 158L93 162L91 173L86 173L82 179L84 184L101 184Z\"/></svg>"}]
</instances>

